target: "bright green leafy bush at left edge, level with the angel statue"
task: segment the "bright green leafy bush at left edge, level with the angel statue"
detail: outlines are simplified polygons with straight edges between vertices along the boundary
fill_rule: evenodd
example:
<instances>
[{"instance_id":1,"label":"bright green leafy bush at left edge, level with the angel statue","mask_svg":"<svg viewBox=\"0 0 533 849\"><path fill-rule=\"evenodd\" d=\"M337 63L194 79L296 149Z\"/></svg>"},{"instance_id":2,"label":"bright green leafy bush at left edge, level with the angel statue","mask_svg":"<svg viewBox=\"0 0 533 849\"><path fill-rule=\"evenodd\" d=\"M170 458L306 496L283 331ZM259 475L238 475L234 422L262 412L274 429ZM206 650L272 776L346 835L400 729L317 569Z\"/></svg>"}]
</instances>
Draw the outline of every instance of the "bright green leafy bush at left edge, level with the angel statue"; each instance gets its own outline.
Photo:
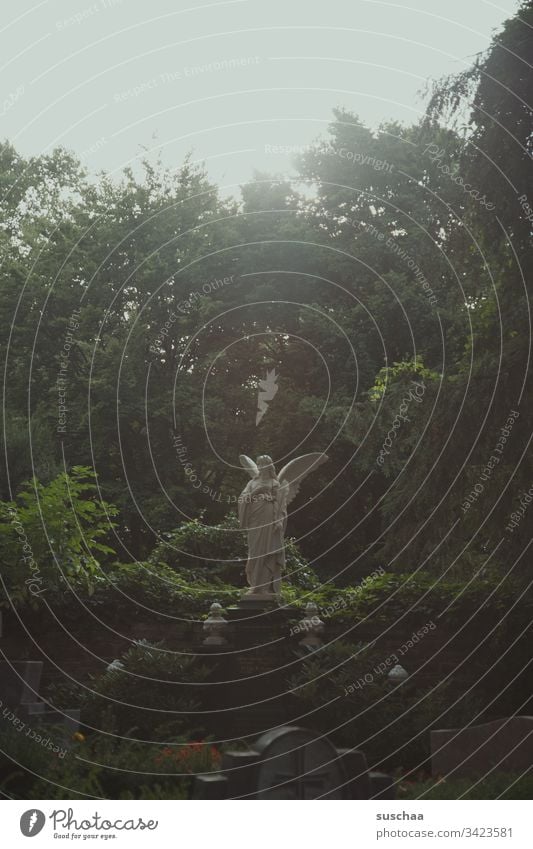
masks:
<instances>
[{"instance_id":1,"label":"bright green leafy bush at left edge, level with the angel statue","mask_svg":"<svg viewBox=\"0 0 533 849\"><path fill-rule=\"evenodd\" d=\"M91 594L100 561L114 554L105 539L116 513L84 466L48 484L34 478L15 501L0 502L0 560L11 602L36 606L41 594L60 595L67 585Z\"/></svg>"}]
</instances>

